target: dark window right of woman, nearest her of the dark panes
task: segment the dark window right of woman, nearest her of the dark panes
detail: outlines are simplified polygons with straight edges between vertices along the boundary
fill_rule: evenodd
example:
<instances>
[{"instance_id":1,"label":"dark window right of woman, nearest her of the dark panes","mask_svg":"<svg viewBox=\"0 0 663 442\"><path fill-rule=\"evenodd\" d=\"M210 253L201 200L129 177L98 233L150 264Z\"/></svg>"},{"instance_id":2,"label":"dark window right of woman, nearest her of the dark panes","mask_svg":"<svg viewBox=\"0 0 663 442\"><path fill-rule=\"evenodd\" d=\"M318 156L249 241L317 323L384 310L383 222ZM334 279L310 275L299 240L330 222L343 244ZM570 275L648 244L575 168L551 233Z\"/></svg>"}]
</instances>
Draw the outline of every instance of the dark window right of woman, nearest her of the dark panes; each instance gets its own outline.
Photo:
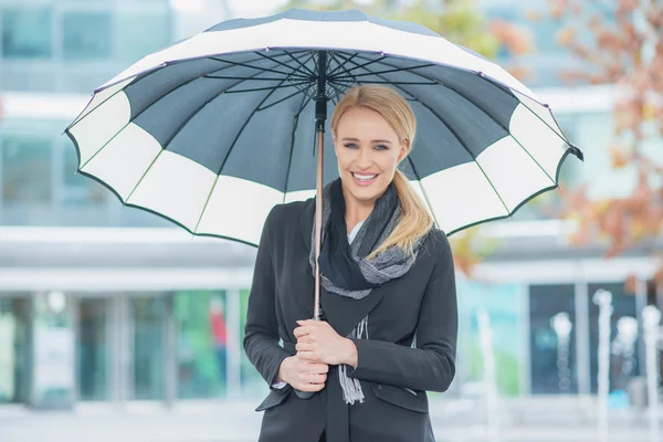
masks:
<instances>
[{"instance_id":1,"label":"dark window right of woman, nearest her of the dark panes","mask_svg":"<svg viewBox=\"0 0 663 442\"><path fill-rule=\"evenodd\" d=\"M573 285L529 287L533 393L578 391Z\"/></svg>"}]
</instances>

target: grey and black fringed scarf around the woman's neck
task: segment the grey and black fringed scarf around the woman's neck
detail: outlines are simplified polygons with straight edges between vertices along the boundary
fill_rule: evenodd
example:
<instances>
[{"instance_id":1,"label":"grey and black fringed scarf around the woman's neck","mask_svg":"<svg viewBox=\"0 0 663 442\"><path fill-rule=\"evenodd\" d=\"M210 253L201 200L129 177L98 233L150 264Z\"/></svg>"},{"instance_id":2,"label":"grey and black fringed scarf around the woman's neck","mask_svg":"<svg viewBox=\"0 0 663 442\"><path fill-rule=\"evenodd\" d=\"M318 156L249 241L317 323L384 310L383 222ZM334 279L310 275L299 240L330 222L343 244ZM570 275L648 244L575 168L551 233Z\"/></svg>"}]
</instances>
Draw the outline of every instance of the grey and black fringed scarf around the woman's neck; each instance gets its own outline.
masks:
<instances>
[{"instance_id":1,"label":"grey and black fringed scarf around the woman's neck","mask_svg":"<svg viewBox=\"0 0 663 442\"><path fill-rule=\"evenodd\" d=\"M414 244L414 255L403 249L391 246L375 259L367 260L366 256L385 242L398 223L401 207L394 185L391 183L376 201L372 212L359 228L351 244L347 244L343 198L340 179L330 182L323 190L320 282L327 292L361 299L368 296L373 287L408 273L414 263L421 241ZM315 275L315 222L311 238L309 262ZM368 339L368 315L347 337ZM339 366L338 376L345 402L349 404L356 401L364 402L361 385L359 380L348 378L346 365Z\"/></svg>"}]
</instances>

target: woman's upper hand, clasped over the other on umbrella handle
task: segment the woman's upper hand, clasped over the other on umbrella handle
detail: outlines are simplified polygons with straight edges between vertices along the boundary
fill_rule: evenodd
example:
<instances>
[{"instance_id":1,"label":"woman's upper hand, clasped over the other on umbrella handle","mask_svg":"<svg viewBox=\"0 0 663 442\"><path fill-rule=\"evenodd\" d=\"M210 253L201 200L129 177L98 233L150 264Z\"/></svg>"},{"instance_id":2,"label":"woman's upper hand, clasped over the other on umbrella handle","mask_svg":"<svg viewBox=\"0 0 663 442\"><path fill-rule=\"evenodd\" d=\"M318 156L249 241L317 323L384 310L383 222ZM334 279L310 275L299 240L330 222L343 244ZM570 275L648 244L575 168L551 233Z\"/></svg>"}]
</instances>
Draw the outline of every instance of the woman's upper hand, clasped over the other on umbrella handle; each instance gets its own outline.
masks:
<instances>
[{"instance_id":1,"label":"woman's upper hand, clasped over the other on umbrella handle","mask_svg":"<svg viewBox=\"0 0 663 442\"><path fill-rule=\"evenodd\" d=\"M297 357L299 359L337 366L346 364L357 367L357 347L348 338L338 335L324 320L297 320Z\"/></svg>"}]
</instances>

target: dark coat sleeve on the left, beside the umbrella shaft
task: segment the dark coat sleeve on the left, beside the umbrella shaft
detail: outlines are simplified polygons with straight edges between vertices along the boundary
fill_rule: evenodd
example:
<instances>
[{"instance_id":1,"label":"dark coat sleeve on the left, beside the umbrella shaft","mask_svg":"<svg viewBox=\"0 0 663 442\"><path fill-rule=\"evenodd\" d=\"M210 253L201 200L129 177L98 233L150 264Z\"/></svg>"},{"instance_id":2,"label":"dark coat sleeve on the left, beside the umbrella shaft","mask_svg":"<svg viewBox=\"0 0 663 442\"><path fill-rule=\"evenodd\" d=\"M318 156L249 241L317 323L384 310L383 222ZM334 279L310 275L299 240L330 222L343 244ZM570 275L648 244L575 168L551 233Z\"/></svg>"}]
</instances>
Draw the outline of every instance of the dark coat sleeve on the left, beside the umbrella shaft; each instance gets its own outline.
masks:
<instances>
[{"instance_id":1,"label":"dark coat sleeve on the left, beside the umbrella shaft","mask_svg":"<svg viewBox=\"0 0 663 442\"><path fill-rule=\"evenodd\" d=\"M275 212L278 209L278 207L272 209L263 227L244 327L244 351L271 387L278 376L281 362L291 356L278 345L275 278L270 243L270 231L274 229Z\"/></svg>"}]
</instances>

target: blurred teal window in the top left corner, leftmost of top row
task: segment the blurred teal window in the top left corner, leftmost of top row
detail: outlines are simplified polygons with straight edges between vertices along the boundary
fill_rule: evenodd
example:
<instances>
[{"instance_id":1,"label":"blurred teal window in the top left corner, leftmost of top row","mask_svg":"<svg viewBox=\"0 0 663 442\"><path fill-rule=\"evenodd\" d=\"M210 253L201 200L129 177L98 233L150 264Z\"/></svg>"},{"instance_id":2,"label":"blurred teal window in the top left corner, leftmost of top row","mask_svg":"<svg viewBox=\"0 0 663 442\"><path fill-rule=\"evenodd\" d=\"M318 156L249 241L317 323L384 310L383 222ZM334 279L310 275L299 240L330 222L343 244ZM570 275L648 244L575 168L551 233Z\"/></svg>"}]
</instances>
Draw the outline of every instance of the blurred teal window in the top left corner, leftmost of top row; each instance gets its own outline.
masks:
<instances>
[{"instance_id":1,"label":"blurred teal window in the top left corner, leftmost of top row","mask_svg":"<svg viewBox=\"0 0 663 442\"><path fill-rule=\"evenodd\" d=\"M2 55L8 59L49 59L51 46L50 8L2 11Z\"/></svg>"}]
</instances>

